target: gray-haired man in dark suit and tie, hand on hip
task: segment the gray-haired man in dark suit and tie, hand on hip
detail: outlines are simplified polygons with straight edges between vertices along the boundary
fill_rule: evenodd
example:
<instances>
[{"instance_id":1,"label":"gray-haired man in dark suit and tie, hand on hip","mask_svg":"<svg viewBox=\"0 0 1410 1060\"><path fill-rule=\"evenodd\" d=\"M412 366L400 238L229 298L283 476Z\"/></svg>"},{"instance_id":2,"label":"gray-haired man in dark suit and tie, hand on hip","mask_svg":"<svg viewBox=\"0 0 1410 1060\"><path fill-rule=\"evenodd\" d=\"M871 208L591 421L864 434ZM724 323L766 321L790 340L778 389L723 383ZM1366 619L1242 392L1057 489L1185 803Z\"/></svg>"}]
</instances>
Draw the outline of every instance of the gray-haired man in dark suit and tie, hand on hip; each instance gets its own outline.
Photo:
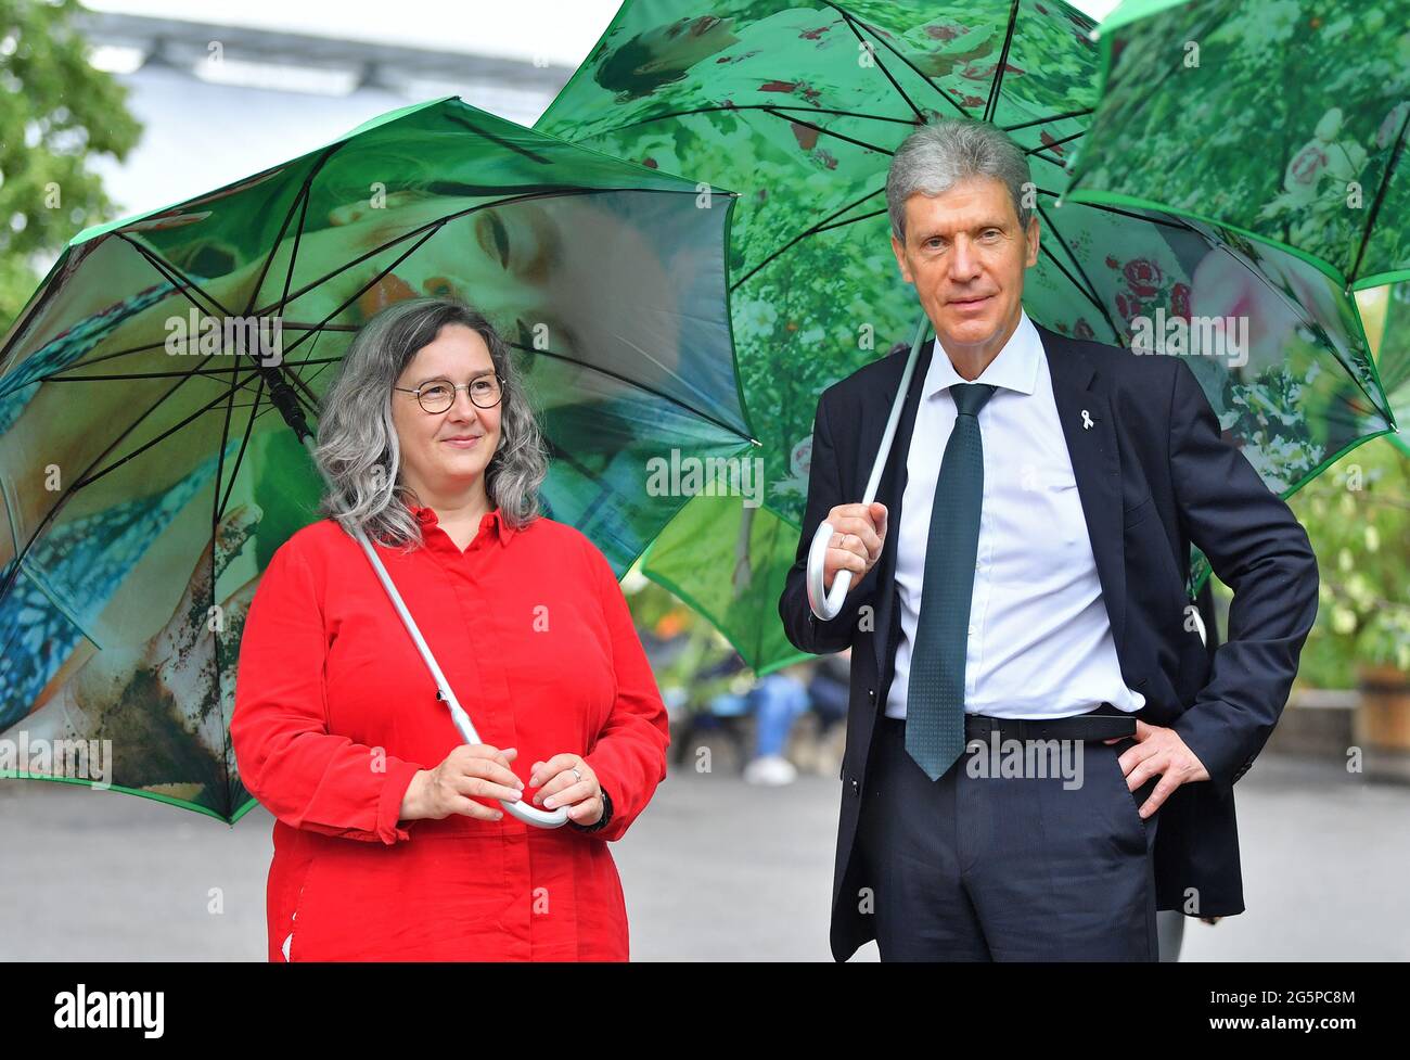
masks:
<instances>
[{"instance_id":1,"label":"gray-haired man in dark suit and tie, hand on hip","mask_svg":"<svg viewBox=\"0 0 1410 1060\"><path fill-rule=\"evenodd\" d=\"M838 960L873 937L883 960L1156 960L1156 909L1242 912L1232 785L1317 612L1307 534L1189 366L1024 313L1029 179L983 123L926 125L893 158L893 249L936 341L876 503L856 502L905 354L818 402L778 609L801 650L853 648ZM826 622L805 586L825 519L825 584L853 571ZM1213 662L1191 541L1235 593ZM995 740L1056 741L1079 768L990 775Z\"/></svg>"}]
</instances>

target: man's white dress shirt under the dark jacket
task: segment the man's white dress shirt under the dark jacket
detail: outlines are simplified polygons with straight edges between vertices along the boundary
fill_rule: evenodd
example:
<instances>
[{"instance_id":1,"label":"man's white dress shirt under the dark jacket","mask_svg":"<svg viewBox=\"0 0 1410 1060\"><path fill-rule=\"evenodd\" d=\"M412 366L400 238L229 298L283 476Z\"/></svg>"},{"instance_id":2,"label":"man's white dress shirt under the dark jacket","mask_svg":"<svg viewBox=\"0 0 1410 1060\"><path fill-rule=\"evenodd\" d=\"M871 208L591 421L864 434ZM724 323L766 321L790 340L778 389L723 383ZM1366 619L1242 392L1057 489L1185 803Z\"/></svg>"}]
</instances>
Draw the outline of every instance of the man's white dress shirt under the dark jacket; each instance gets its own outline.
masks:
<instances>
[{"instance_id":1,"label":"man's white dress shirt under the dark jacket","mask_svg":"<svg viewBox=\"0 0 1410 1060\"><path fill-rule=\"evenodd\" d=\"M1066 717L1103 702L1139 710L1127 688L1101 599L1097 561L1042 338L1026 313L979 379L955 371L935 343L925 375L897 534L901 639L885 713L905 717L911 648L921 613L925 546L940 460L955 426L955 383L993 383L979 412L984 507L964 662L964 710L997 717ZM888 536L890 536L888 533Z\"/></svg>"}]
</instances>

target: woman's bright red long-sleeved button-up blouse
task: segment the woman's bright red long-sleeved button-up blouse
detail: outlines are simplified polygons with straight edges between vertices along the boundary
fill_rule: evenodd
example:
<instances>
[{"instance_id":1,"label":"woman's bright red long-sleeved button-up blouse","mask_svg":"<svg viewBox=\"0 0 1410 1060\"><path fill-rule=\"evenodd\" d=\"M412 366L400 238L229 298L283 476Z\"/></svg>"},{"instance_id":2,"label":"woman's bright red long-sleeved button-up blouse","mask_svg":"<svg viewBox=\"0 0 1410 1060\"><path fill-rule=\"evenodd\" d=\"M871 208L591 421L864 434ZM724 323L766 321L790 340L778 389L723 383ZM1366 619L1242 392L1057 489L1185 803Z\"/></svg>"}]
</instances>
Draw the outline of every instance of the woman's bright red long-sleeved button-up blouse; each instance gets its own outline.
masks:
<instances>
[{"instance_id":1,"label":"woman's bright red long-sleeved button-up blouse","mask_svg":"<svg viewBox=\"0 0 1410 1060\"><path fill-rule=\"evenodd\" d=\"M330 519L303 527L251 603L230 726L275 816L269 960L626 960L606 840L664 779L670 736L616 577L550 519L516 531L496 509L461 553L412 510L424 548L374 547L479 739L519 748L526 798L533 763L581 754L612 818L592 833L399 820L416 771L462 740L358 543Z\"/></svg>"}]
</instances>

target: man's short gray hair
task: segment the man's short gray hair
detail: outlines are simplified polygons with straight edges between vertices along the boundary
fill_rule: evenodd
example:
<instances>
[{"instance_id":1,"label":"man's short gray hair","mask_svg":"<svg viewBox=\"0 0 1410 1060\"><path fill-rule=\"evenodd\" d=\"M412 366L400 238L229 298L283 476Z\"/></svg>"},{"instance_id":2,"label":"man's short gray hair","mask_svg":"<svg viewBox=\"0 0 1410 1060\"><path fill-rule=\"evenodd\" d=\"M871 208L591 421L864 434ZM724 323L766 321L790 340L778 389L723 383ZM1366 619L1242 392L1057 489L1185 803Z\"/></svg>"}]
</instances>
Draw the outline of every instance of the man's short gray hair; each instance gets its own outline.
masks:
<instances>
[{"instance_id":1,"label":"man's short gray hair","mask_svg":"<svg viewBox=\"0 0 1410 1060\"><path fill-rule=\"evenodd\" d=\"M891 234L905 242L905 202L912 195L940 195L970 176L993 176L1008 185L1018 227L1028 230L1032 209L1024 204L1024 192L1034 178L1024 149L993 123L942 118L921 125L891 156L885 178Z\"/></svg>"}]
</instances>

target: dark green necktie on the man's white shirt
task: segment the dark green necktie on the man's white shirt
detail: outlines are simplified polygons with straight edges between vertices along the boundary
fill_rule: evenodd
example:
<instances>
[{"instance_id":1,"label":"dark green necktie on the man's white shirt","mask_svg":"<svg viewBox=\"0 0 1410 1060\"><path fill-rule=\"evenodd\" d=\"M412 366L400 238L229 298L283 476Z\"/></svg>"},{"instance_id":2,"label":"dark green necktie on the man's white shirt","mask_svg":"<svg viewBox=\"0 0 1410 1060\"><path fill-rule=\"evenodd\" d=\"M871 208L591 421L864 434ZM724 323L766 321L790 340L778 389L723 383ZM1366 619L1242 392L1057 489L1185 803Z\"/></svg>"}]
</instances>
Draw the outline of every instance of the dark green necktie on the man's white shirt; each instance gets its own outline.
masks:
<instances>
[{"instance_id":1,"label":"dark green necktie on the man's white shirt","mask_svg":"<svg viewBox=\"0 0 1410 1060\"><path fill-rule=\"evenodd\" d=\"M905 750L932 781L964 751L964 654L984 500L979 410L993 393L988 383L950 386L955 429L945 444L931 507L921 616L905 698Z\"/></svg>"}]
</instances>

